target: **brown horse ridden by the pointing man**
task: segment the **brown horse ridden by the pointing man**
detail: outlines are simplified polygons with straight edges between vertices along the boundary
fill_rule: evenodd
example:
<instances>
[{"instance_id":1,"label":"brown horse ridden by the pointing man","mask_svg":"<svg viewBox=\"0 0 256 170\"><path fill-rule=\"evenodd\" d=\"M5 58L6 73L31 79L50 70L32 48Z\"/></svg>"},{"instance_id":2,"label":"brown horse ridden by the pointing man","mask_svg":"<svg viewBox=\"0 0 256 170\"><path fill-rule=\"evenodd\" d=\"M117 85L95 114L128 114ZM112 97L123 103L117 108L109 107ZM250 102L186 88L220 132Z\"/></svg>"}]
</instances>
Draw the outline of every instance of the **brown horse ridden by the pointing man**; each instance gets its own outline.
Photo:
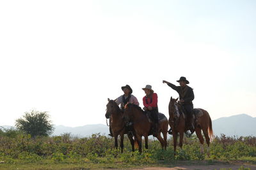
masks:
<instances>
[{"instance_id":1,"label":"brown horse ridden by the pointing man","mask_svg":"<svg viewBox=\"0 0 256 170\"><path fill-rule=\"evenodd\" d=\"M170 99L169 103L169 124L172 127L172 134L173 134L173 147L174 147L174 154L176 153L176 145L177 145L177 136L178 132L180 135L180 142L179 146L182 148L183 143L183 136L184 132L188 131L188 127L186 127L185 123L185 115L180 111L179 103L177 103L177 99ZM209 145L210 139L213 138L212 133L212 120L209 113L203 109L194 109L193 112L198 112L195 116L196 124L195 124L195 132L196 136L200 140L201 143L201 153L204 153L204 138L202 136L202 131L204 132L204 136L207 143L207 155L209 157ZM201 131L202 130L202 131Z\"/></svg>"}]
</instances>

